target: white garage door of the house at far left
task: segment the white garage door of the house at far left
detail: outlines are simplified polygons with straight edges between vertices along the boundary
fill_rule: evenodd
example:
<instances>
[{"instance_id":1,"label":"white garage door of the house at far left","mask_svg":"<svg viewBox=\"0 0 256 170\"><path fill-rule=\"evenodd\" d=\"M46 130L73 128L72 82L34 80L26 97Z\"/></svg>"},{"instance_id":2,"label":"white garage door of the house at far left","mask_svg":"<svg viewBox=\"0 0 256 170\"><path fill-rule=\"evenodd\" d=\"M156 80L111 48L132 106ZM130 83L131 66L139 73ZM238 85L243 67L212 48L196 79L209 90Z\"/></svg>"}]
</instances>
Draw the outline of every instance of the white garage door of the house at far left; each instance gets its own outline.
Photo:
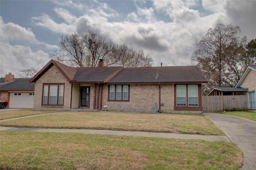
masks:
<instances>
[{"instance_id":1,"label":"white garage door of the house at far left","mask_svg":"<svg viewBox=\"0 0 256 170\"><path fill-rule=\"evenodd\" d=\"M34 93L10 93L9 108L33 108Z\"/></svg>"}]
</instances>

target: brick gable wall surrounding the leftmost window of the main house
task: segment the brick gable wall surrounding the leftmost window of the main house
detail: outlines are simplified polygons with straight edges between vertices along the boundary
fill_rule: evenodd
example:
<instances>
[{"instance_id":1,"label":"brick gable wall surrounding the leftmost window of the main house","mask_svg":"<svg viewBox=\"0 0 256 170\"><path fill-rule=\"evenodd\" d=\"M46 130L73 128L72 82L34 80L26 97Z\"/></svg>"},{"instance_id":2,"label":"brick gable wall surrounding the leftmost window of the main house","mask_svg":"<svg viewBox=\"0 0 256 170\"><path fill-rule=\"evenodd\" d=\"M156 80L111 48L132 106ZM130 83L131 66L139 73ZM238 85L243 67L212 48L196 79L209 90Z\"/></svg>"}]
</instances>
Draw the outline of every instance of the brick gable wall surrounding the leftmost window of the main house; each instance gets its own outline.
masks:
<instances>
[{"instance_id":1,"label":"brick gable wall surrounding the leftmost window of the main house","mask_svg":"<svg viewBox=\"0 0 256 170\"><path fill-rule=\"evenodd\" d=\"M51 109L49 106L42 106L43 83L65 83L64 85L64 106L52 106L52 109L70 109L71 84L63 74L52 66L35 83L34 109Z\"/></svg>"}]
</instances>

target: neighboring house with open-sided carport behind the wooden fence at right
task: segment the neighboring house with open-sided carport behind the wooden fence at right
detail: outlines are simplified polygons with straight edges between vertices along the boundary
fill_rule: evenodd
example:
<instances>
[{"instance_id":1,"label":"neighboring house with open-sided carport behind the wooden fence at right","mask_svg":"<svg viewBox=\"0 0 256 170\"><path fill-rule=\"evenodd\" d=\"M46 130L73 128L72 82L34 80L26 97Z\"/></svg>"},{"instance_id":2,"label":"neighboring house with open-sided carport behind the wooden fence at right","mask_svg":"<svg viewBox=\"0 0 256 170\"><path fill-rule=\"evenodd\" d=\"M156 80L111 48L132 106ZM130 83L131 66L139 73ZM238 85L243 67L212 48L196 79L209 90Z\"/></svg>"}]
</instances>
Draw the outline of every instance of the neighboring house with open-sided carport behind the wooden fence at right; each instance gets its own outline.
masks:
<instances>
[{"instance_id":1,"label":"neighboring house with open-sided carport behind the wooden fence at right","mask_svg":"<svg viewBox=\"0 0 256 170\"><path fill-rule=\"evenodd\" d=\"M214 88L208 96L246 95L248 108L256 111L256 65L248 66L235 87Z\"/></svg>"}]
</instances>

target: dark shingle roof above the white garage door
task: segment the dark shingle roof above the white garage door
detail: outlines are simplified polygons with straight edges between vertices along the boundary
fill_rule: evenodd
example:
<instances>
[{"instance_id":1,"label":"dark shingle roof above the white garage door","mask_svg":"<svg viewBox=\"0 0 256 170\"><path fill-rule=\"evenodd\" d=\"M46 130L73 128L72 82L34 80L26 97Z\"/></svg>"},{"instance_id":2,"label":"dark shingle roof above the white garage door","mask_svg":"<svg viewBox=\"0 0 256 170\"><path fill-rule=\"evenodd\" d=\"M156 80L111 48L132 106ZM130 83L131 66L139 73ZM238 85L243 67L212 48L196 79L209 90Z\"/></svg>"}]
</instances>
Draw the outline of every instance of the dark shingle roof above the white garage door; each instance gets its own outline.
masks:
<instances>
[{"instance_id":1,"label":"dark shingle roof above the white garage door","mask_svg":"<svg viewBox=\"0 0 256 170\"><path fill-rule=\"evenodd\" d=\"M13 82L0 84L0 90L34 90L35 83L28 83L30 78L14 78Z\"/></svg>"}]
</instances>

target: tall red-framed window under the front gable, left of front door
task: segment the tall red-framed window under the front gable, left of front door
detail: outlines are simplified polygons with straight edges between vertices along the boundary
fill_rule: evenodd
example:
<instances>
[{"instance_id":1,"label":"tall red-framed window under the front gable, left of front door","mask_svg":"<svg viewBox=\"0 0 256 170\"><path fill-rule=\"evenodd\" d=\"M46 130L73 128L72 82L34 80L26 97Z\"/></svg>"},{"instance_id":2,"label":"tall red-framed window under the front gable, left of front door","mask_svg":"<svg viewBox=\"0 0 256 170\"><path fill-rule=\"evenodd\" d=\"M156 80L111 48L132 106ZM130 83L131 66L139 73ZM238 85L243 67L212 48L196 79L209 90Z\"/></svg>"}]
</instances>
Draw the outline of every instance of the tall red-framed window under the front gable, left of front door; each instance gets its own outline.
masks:
<instances>
[{"instance_id":1,"label":"tall red-framed window under the front gable, left of front door","mask_svg":"<svg viewBox=\"0 0 256 170\"><path fill-rule=\"evenodd\" d=\"M44 84L43 105L63 106L64 84Z\"/></svg>"}]
</instances>

